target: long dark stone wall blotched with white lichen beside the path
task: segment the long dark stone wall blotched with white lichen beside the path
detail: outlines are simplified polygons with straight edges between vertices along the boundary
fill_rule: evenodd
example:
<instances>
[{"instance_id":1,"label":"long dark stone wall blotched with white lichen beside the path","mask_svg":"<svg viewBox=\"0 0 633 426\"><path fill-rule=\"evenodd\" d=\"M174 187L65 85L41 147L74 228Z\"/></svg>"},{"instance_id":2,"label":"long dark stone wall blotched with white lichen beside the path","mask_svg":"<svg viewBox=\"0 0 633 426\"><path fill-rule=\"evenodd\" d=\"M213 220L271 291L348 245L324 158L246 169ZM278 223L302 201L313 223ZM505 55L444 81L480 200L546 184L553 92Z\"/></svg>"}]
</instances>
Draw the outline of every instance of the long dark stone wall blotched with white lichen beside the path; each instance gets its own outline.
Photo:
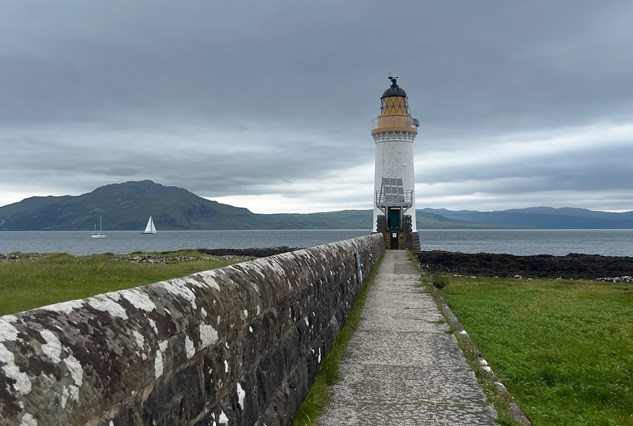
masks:
<instances>
[{"instance_id":1,"label":"long dark stone wall blotched with white lichen beside the path","mask_svg":"<svg viewBox=\"0 0 633 426\"><path fill-rule=\"evenodd\" d=\"M0 317L0 424L288 424L380 234Z\"/></svg>"}]
</instances>

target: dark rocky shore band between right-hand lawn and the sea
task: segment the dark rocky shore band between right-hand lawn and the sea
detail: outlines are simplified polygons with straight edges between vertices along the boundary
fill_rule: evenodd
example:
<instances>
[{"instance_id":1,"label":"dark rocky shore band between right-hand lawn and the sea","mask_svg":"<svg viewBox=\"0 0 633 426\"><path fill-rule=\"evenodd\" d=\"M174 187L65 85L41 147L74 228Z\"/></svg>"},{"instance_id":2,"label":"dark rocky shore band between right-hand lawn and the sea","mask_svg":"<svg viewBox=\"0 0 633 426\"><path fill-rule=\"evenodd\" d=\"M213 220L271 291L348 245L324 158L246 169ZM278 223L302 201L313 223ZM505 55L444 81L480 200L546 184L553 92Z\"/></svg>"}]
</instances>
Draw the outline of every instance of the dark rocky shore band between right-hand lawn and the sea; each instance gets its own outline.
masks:
<instances>
[{"instance_id":1,"label":"dark rocky shore band between right-hand lawn and the sea","mask_svg":"<svg viewBox=\"0 0 633 426\"><path fill-rule=\"evenodd\" d=\"M633 257L570 253L566 256L514 256L495 253L455 253L423 251L420 265L431 271L462 275L517 278L567 278L624 281L633 275Z\"/></svg>"}]
</instances>

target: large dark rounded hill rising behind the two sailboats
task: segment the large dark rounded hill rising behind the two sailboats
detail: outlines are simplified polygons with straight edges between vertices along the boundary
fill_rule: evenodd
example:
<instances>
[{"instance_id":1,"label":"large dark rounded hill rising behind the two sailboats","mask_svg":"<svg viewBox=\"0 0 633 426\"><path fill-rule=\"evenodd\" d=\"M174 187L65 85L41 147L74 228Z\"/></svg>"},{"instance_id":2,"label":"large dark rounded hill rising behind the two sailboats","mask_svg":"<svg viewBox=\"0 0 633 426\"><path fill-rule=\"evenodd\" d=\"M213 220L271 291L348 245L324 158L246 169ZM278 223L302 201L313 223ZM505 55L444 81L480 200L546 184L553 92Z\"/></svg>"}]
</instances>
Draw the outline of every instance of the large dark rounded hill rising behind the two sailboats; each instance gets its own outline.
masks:
<instances>
[{"instance_id":1,"label":"large dark rounded hill rising behind the two sailboats","mask_svg":"<svg viewBox=\"0 0 633 426\"><path fill-rule=\"evenodd\" d=\"M152 181L106 185L79 196L31 197L0 207L0 230L88 230L103 216L110 230L143 229L152 215L159 229L248 227L254 214Z\"/></svg>"}]
</instances>

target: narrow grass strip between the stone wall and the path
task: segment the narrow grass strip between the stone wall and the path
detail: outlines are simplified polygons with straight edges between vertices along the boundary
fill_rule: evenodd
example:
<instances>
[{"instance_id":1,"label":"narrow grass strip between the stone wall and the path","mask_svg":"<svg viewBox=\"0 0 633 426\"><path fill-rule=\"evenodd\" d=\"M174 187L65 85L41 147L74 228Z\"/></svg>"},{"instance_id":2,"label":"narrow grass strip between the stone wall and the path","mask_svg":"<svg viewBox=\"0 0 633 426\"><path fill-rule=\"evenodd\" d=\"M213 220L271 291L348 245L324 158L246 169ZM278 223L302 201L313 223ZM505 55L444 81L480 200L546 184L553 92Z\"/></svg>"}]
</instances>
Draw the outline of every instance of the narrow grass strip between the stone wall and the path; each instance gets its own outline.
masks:
<instances>
[{"instance_id":1,"label":"narrow grass strip between the stone wall and the path","mask_svg":"<svg viewBox=\"0 0 633 426\"><path fill-rule=\"evenodd\" d=\"M367 300L367 294L371 284L374 282L374 278L378 273L378 267L382 262L382 255L376 262L374 270L367 280L367 284L360 290L356 303L347 317L347 321L341 331L339 332L336 341L332 347L332 350L324 357L323 363L319 367L314 384L308 392L305 400L297 410L293 421L294 426L310 426L316 423L316 420L321 415L325 407L330 401L330 388L336 383L339 378L339 364L347 345L352 335L358 328L360 322L360 314Z\"/></svg>"}]
</instances>

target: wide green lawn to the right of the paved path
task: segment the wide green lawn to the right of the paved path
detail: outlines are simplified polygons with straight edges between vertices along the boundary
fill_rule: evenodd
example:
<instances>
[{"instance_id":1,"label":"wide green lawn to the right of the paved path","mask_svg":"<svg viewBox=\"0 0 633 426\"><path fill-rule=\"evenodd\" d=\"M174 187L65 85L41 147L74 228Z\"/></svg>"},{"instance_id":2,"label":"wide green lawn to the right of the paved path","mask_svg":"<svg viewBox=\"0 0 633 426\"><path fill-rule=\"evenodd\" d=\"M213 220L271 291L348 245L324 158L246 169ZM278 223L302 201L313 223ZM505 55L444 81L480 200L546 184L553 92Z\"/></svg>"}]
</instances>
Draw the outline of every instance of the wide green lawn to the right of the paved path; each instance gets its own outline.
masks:
<instances>
[{"instance_id":1,"label":"wide green lawn to the right of the paved path","mask_svg":"<svg viewBox=\"0 0 633 426\"><path fill-rule=\"evenodd\" d=\"M441 293L534 425L633 425L633 286L451 278Z\"/></svg>"}]
</instances>

